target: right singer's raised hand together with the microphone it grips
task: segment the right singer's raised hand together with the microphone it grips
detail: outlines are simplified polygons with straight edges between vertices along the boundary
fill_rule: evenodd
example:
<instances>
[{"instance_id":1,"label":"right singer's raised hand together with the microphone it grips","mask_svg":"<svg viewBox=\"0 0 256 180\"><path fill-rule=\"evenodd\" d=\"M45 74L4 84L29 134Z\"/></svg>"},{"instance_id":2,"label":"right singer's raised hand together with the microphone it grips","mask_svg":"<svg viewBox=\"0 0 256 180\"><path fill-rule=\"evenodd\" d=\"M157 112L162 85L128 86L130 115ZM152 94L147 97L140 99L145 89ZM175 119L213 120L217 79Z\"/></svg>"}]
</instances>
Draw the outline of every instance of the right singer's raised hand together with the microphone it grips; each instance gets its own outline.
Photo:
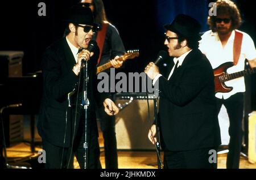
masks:
<instances>
[{"instance_id":1,"label":"right singer's raised hand together with the microphone it grips","mask_svg":"<svg viewBox=\"0 0 256 180\"><path fill-rule=\"evenodd\" d=\"M158 58L156 58L156 61L155 63L153 62L150 62L144 72L147 74L147 76L150 78L150 79L154 79L155 76L157 76L159 74L159 68L158 66L156 66L156 64L158 64L160 61L162 61L162 59L166 59L167 58L167 53L165 51L160 51L158 53Z\"/></svg>"}]
</instances>

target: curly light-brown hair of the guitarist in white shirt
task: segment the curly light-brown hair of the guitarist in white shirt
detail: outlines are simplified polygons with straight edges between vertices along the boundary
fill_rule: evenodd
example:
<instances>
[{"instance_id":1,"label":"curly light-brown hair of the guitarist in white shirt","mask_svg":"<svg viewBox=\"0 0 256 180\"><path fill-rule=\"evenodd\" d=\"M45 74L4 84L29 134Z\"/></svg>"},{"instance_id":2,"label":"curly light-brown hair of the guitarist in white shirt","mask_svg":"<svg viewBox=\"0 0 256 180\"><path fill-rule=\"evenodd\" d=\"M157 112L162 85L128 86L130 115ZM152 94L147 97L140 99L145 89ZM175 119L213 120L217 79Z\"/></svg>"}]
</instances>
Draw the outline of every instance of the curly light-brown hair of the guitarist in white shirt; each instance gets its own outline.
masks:
<instances>
[{"instance_id":1,"label":"curly light-brown hair of the guitarist in white shirt","mask_svg":"<svg viewBox=\"0 0 256 180\"><path fill-rule=\"evenodd\" d=\"M230 0L218 0L210 11L216 7L217 14L228 14L232 20L232 29L237 29L242 24L241 14L236 4ZM213 32L216 31L216 16L208 16L207 23Z\"/></svg>"}]
</instances>

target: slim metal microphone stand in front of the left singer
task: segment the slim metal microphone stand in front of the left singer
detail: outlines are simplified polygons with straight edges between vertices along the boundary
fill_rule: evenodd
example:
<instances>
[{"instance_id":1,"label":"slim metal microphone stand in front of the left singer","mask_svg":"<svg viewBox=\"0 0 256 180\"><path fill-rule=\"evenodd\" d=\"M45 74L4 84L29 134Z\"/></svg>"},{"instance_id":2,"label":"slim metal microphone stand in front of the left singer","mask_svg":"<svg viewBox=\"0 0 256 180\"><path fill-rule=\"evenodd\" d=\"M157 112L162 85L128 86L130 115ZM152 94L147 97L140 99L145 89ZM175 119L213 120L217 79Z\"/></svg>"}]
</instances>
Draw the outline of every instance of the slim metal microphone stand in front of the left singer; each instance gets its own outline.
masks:
<instances>
[{"instance_id":1,"label":"slim metal microphone stand in front of the left singer","mask_svg":"<svg viewBox=\"0 0 256 180\"><path fill-rule=\"evenodd\" d=\"M88 165L88 147L89 147L89 138L88 138L88 108L89 108L89 100L88 100L88 62L82 59L82 64L84 64L84 82L82 84L82 92L83 92L83 101L84 101L84 112L85 112L85 142L84 142L84 168L87 169ZM82 66L82 65L81 65Z\"/></svg>"}]
</instances>

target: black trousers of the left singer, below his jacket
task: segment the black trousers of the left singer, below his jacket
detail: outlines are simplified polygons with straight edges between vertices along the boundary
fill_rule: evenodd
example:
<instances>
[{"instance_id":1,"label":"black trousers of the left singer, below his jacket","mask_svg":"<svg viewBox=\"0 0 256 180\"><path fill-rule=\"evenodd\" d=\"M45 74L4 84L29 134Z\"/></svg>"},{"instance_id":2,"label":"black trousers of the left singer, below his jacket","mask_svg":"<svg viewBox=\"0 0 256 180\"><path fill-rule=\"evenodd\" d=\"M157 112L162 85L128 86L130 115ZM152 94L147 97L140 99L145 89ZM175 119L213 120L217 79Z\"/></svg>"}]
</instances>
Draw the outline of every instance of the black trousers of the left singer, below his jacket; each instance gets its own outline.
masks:
<instances>
[{"instance_id":1,"label":"black trousers of the left singer, below his jacket","mask_svg":"<svg viewBox=\"0 0 256 180\"><path fill-rule=\"evenodd\" d=\"M81 126L80 126L81 125ZM100 147L98 145L98 132L90 128L88 132L89 146L88 146L88 169L99 169L100 164ZM85 131L83 123L79 124L73 148L58 147L49 143L47 140L42 139L43 149L46 151L46 168L60 169L60 168L73 168L73 157L76 156L81 169L85 165ZM70 159L70 160L69 160Z\"/></svg>"}]
</instances>

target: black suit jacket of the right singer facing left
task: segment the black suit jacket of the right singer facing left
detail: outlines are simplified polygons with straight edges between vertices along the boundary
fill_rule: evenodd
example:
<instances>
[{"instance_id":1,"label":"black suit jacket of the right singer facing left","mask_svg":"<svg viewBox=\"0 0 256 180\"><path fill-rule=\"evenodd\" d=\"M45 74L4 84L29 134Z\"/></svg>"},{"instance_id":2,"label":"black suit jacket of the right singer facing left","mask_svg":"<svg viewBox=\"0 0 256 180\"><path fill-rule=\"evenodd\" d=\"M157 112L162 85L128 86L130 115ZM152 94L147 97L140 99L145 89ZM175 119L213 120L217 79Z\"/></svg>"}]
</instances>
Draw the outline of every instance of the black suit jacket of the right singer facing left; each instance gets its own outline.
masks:
<instances>
[{"instance_id":1,"label":"black suit jacket of the right singer facing left","mask_svg":"<svg viewBox=\"0 0 256 180\"><path fill-rule=\"evenodd\" d=\"M187 151L220 145L213 70L200 50L192 50L170 80L161 76L159 126L162 147Z\"/></svg>"}]
</instances>

